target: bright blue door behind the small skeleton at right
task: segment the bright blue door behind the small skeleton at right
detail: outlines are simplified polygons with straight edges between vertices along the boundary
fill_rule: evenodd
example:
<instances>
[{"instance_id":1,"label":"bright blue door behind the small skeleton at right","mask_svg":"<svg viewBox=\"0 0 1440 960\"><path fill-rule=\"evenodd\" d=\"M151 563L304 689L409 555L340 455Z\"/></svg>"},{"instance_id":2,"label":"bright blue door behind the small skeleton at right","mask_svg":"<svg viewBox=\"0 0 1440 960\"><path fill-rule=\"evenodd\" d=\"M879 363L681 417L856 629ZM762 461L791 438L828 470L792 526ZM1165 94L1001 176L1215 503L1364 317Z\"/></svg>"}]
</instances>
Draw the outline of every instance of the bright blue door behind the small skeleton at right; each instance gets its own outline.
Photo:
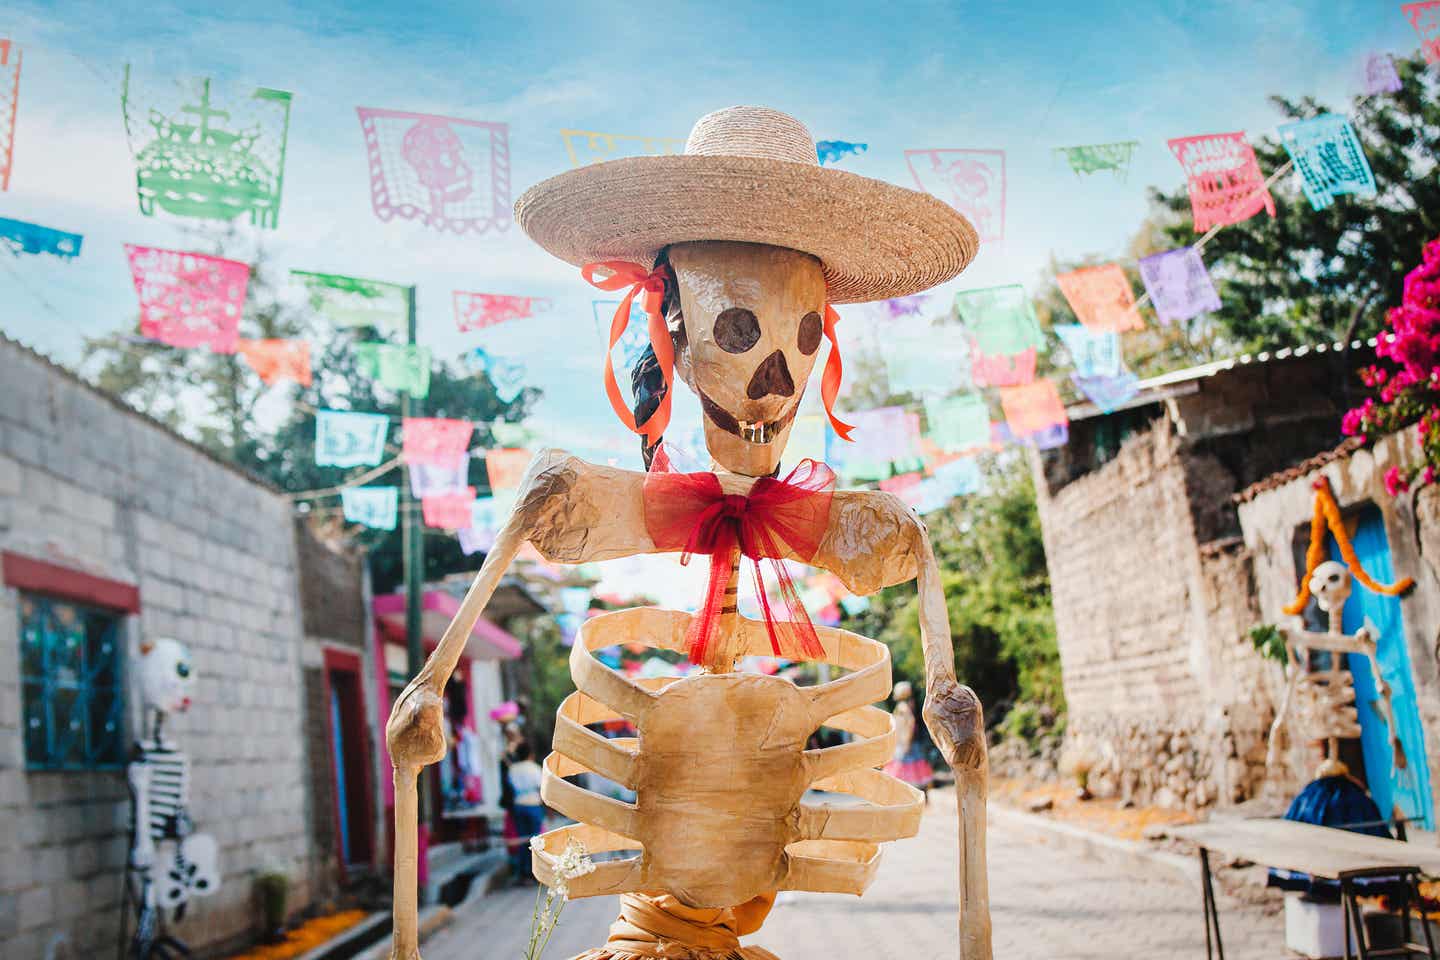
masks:
<instances>
[{"instance_id":1,"label":"bright blue door behind the small skeleton at right","mask_svg":"<svg viewBox=\"0 0 1440 960\"><path fill-rule=\"evenodd\" d=\"M1351 535L1355 556L1365 573L1378 583L1392 583L1395 571L1390 563L1390 541L1378 507L1367 507L1358 515L1355 533ZM1339 556L1335 538L1329 540L1332 560ZM1344 629L1354 633L1369 617L1380 629L1375 659L1380 671L1390 682L1391 711L1400 731L1400 744L1405 750L1405 769L1394 763L1385 721L1378 712L1375 678L1369 672L1369 661L1364 656L1348 656L1348 666L1355 676L1355 707L1359 714L1361 747L1365 751L1365 782L1369 794L1381 815L1391 816L1398 807L1403 816L1417 820L1424 829L1434 829L1434 807L1430 799L1430 769L1426 764L1426 735L1420 725L1420 710L1416 705L1416 684L1410 672L1410 653L1405 649L1404 619L1400 612L1400 597L1387 597L1365 587L1352 576L1354 592L1345 603Z\"/></svg>"}]
</instances>

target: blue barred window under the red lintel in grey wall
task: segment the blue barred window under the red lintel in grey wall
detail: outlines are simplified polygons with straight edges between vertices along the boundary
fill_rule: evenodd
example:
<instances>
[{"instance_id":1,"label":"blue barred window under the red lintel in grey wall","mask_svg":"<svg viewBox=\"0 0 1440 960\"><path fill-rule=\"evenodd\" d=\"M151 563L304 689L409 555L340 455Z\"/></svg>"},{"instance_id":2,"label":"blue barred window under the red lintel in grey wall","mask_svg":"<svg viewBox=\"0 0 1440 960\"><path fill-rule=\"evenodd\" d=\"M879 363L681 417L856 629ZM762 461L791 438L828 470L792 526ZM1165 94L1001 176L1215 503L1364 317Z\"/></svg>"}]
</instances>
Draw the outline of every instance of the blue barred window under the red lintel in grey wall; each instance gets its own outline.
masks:
<instances>
[{"instance_id":1,"label":"blue barred window under the red lintel in grey wall","mask_svg":"<svg viewBox=\"0 0 1440 960\"><path fill-rule=\"evenodd\" d=\"M20 593L20 684L29 770L125 763L121 613Z\"/></svg>"}]
</instances>

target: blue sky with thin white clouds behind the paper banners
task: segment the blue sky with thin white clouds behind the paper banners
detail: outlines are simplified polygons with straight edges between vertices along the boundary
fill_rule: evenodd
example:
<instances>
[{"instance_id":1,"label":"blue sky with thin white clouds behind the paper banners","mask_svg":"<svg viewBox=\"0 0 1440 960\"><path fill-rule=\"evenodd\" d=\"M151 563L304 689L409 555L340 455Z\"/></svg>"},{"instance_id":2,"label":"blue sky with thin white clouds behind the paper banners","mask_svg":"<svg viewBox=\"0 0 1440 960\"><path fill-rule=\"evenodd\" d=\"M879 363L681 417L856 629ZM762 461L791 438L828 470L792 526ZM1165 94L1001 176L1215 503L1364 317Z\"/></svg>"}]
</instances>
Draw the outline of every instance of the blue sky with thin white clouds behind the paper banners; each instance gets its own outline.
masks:
<instances>
[{"instance_id":1,"label":"blue sky with thin white clouds behind the paper banners","mask_svg":"<svg viewBox=\"0 0 1440 960\"><path fill-rule=\"evenodd\" d=\"M451 9L10 0L3 36L23 46L24 75L0 216L85 235L75 262L0 263L7 334L76 360L84 335L134 322L121 245L186 243L181 222L135 207L118 102L125 62L156 76L272 86L295 95L281 226L259 236L276 266L418 284L422 343L442 357L484 344L526 361L546 391L531 425L563 446L624 438L598 373L590 301L603 295L517 229L455 237L379 222L357 105L510 124L517 196L567 167L560 128L683 138L698 115L743 102L791 112L816 138L868 142L844 167L907 186L906 148L1004 150L1007 237L949 285L959 289L1034 284L1051 256L1122 258L1145 187L1182 183L1166 138L1270 132L1266 98L1276 92L1342 108L1369 50L1417 46L1397 1L1338 0ZM1125 183L1079 180L1053 154L1115 140L1140 141ZM556 308L458 334L452 289L549 296ZM842 314L842 344L858 350L871 330L865 309ZM697 422L688 397L677 404L677 425Z\"/></svg>"}]
</instances>

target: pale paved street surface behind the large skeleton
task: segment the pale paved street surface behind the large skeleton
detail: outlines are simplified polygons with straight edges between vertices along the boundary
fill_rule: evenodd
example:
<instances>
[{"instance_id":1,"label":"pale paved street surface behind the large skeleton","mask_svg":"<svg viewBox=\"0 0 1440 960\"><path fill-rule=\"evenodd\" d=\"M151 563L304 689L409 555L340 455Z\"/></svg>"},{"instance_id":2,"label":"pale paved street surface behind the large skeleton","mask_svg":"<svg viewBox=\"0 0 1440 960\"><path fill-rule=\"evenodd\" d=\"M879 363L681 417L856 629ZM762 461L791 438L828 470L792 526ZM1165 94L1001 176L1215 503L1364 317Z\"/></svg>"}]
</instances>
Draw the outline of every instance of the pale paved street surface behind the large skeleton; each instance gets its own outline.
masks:
<instances>
[{"instance_id":1,"label":"pale paved street surface behind the large skeleton","mask_svg":"<svg viewBox=\"0 0 1440 960\"><path fill-rule=\"evenodd\" d=\"M953 960L956 956L955 806L940 794L920 833L891 843L864 898L780 894L752 938L780 960ZM1201 959L1197 885L1146 866L1126 871L998 826L989 830L991 913L998 960ZM520 960L534 889L508 889L459 907L425 944L426 960ZM566 907L546 951L566 960L605 941L609 898ZM1282 917L1221 901L1225 956L1284 956Z\"/></svg>"}]
</instances>

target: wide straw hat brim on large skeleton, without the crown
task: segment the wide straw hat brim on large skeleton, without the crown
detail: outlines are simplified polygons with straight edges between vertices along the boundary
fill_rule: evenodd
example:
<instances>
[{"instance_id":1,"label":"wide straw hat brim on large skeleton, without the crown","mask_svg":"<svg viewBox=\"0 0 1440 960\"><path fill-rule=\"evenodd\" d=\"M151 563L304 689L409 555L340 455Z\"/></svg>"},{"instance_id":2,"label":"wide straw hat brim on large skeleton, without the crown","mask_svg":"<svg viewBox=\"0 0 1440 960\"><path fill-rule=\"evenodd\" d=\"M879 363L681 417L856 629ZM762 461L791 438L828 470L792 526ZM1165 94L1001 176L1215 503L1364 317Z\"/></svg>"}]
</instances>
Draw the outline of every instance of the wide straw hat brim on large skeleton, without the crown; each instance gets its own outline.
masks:
<instances>
[{"instance_id":1,"label":"wide straw hat brim on large skeleton, without the crown","mask_svg":"<svg viewBox=\"0 0 1440 960\"><path fill-rule=\"evenodd\" d=\"M671 243L769 243L819 258L832 304L907 296L956 276L975 227L927 193L844 170L760 157L625 157L530 187L516 222L583 266L651 266Z\"/></svg>"}]
</instances>

